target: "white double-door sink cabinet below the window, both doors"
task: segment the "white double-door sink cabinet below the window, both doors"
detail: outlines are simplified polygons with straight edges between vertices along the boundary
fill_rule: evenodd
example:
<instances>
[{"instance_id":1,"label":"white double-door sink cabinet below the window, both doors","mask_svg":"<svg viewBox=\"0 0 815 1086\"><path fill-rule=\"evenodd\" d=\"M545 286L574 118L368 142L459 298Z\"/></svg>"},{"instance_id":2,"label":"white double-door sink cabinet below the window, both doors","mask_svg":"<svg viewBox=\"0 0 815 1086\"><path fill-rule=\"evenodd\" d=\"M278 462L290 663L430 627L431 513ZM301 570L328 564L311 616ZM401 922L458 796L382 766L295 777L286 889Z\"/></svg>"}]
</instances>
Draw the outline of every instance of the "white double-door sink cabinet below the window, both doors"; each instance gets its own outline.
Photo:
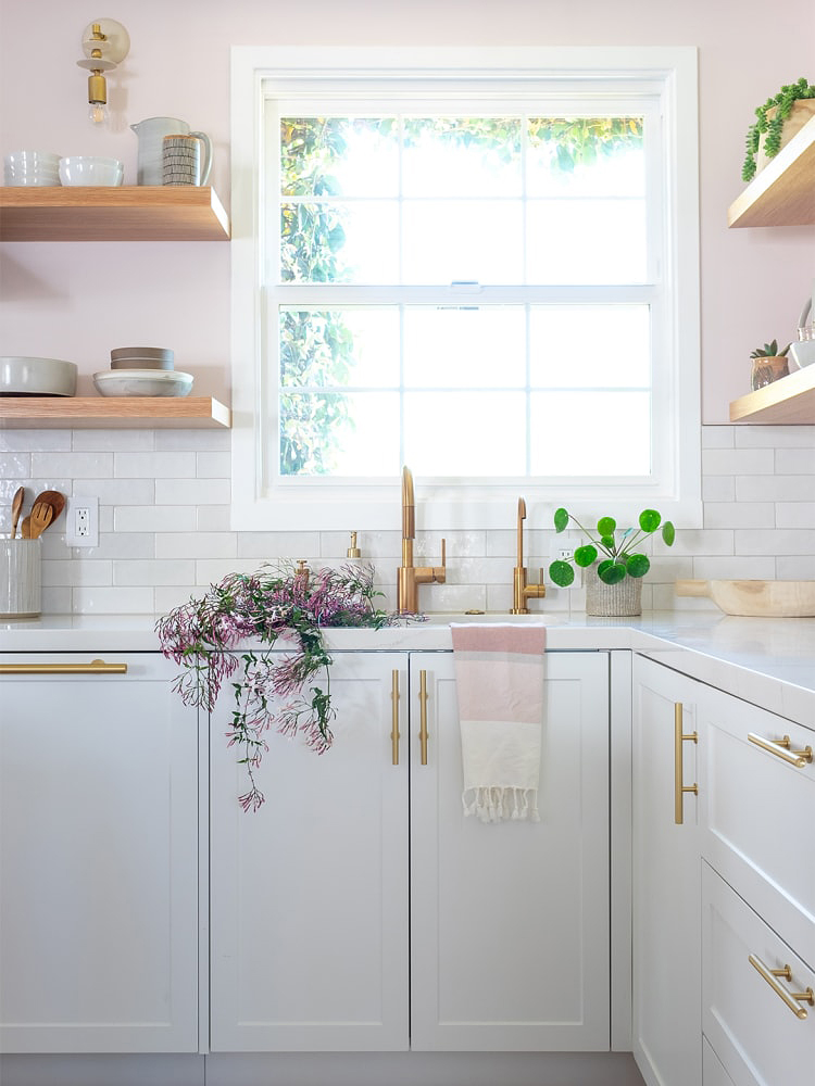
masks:
<instances>
[{"instance_id":1,"label":"white double-door sink cabinet below the window, both doors","mask_svg":"<svg viewBox=\"0 0 815 1086\"><path fill-rule=\"evenodd\" d=\"M213 718L212 1050L607 1051L607 655L547 655L541 821L498 825L452 654L333 657L334 746L272 737L256 815Z\"/></svg>"}]
</instances>

